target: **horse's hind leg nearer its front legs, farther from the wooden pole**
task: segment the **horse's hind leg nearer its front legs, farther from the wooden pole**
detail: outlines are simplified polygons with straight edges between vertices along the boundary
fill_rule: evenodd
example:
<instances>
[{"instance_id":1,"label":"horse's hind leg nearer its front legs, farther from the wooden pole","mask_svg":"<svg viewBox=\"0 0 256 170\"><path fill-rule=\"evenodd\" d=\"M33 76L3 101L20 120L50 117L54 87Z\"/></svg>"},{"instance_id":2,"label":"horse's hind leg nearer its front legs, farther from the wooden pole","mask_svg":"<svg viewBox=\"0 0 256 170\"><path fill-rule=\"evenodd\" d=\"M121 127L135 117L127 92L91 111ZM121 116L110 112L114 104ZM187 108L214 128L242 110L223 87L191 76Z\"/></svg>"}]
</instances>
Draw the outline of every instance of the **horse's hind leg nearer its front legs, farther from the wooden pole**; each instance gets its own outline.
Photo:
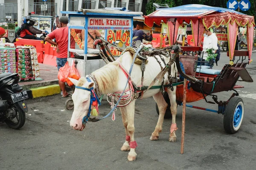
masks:
<instances>
[{"instance_id":1,"label":"horse's hind leg nearer its front legs, farther from the wooden pole","mask_svg":"<svg viewBox=\"0 0 256 170\"><path fill-rule=\"evenodd\" d=\"M153 96L154 100L157 102L158 110L159 110L159 117L157 121L157 126L155 127L154 132L152 133L150 140L158 140L159 133L162 132L163 129L163 118L166 112L166 108L168 107L166 101L163 98L161 92L155 94Z\"/></svg>"}]
</instances>

